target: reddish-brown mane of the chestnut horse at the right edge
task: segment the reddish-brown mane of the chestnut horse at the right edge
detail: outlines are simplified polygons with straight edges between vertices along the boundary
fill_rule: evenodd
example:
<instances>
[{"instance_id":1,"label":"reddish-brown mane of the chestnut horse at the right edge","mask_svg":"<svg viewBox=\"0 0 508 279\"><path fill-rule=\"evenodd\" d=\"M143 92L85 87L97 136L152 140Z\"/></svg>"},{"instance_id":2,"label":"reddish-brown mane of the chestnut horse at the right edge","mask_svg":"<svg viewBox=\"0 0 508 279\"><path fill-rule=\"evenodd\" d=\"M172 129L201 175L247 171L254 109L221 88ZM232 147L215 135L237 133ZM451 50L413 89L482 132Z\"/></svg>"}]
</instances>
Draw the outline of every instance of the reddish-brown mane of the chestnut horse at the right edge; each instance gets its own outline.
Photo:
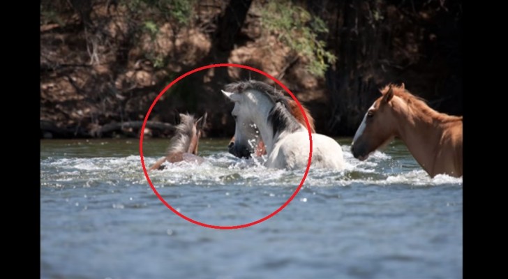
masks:
<instances>
[{"instance_id":1,"label":"reddish-brown mane of the chestnut horse at the right edge","mask_svg":"<svg viewBox=\"0 0 508 279\"><path fill-rule=\"evenodd\" d=\"M389 89L393 90L394 96L401 98L405 103L408 104L410 110L415 113L421 113L424 116L428 116L431 119L440 121L440 122L451 122L451 121L462 121L462 116L451 116L448 114L444 114L442 112L437 112L429 107L426 103L426 100L420 98L418 96L412 95L409 91L405 90L404 86L397 86L394 84L388 84L384 86L384 88L380 89L382 95L386 94Z\"/></svg>"}]
</instances>

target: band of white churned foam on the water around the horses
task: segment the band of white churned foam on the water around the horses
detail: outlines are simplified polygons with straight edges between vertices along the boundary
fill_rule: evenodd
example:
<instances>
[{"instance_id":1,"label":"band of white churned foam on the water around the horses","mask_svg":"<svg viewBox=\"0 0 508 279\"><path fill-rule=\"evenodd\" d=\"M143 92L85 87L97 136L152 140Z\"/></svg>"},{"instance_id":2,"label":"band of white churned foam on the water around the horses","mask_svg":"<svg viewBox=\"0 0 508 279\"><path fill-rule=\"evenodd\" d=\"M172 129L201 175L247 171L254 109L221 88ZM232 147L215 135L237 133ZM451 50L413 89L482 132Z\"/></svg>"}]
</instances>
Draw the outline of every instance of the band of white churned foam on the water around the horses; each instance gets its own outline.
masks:
<instances>
[{"instance_id":1,"label":"band of white churned foam on the water around the horses","mask_svg":"<svg viewBox=\"0 0 508 279\"><path fill-rule=\"evenodd\" d=\"M343 146L345 169L331 171L311 167L304 186L462 184L462 178L457 179L447 175L438 175L431 179L419 167L401 171L404 162L398 162L381 151L375 151L368 160L359 161L353 158L349 147ZM145 157L146 167L154 164L158 158L160 157ZM149 172L149 177L156 188L181 184L294 187L299 185L304 175L304 169L291 171L268 169L263 165L266 158L239 159L226 152L216 152L204 156L204 159L205 162L201 165L188 162L165 163L165 169ZM140 157L135 155L120 158L47 158L41 161L41 165L45 166L41 170L41 178L45 186L61 187L65 186L64 182L75 180L82 180L84 187L90 187L94 184L91 182L98 180L112 185L117 185L119 180L148 185ZM52 173L51 177L49 173Z\"/></svg>"}]
</instances>

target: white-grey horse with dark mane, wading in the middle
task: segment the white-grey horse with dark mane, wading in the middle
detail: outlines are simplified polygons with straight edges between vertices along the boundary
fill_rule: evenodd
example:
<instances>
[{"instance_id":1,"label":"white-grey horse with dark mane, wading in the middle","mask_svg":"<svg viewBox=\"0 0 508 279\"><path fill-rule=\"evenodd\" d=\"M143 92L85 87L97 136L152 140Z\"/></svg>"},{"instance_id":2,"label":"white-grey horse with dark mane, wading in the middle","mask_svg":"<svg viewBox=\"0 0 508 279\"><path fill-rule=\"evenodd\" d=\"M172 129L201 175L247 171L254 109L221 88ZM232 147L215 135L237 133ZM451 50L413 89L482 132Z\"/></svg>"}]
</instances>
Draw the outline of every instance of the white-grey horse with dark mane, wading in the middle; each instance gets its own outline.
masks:
<instances>
[{"instance_id":1,"label":"white-grey horse with dark mane, wading in the middle","mask_svg":"<svg viewBox=\"0 0 508 279\"><path fill-rule=\"evenodd\" d=\"M223 94L234 102L235 145L246 142L242 126L253 123L267 151L266 167L300 169L307 166L309 138L306 126L290 112L281 91L264 82L249 80L227 84ZM341 146L331 137L312 134L314 167L341 170L345 167Z\"/></svg>"}]
</instances>

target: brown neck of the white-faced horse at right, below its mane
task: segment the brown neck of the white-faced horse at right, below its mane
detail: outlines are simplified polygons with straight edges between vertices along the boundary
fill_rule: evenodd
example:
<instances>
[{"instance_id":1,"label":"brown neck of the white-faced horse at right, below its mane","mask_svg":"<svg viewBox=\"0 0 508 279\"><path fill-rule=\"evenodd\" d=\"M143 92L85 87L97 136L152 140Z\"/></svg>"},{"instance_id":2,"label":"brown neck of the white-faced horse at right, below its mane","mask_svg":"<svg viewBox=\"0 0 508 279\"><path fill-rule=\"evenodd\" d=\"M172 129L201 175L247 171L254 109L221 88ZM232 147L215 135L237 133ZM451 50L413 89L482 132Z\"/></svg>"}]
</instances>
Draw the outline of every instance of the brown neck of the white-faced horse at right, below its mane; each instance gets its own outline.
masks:
<instances>
[{"instance_id":1,"label":"brown neck of the white-faced horse at right, below its mane","mask_svg":"<svg viewBox=\"0 0 508 279\"><path fill-rule=\"evenodd\" d=\"M430 107L429 107L430 110ZM408 147L411 155L428 173L432 174L435 167L436 154L440 149L440 139L447 128L442 114L425 114L418 110L405 110L398 119L398 137ZM453 116L449 116L453 117Z\"/></svg>"}]
</instances>

